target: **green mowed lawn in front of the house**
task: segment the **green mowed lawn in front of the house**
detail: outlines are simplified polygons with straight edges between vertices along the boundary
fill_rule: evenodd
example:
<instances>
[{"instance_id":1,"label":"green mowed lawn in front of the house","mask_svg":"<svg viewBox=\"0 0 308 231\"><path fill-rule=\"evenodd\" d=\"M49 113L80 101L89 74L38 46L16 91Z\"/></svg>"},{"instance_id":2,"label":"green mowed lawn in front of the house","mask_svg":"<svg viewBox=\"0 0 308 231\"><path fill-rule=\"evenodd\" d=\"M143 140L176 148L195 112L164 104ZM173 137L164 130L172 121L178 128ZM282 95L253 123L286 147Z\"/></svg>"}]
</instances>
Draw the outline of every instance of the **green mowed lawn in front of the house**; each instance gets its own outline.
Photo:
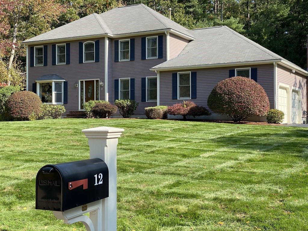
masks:
<instances>
[{"instance_id":1,"label":"green mowed lawn in front of the house","mask_svg":"<svg viewBox=\"0 0 308 231\"><path fill-rule=\"evenodd\" d=\"M85 230L35 210L45 164L88 159L81 130L124 128L118 231L307 230L308 129L191 121L0 123L0 230Z\"/></svg>"}]
</instances>

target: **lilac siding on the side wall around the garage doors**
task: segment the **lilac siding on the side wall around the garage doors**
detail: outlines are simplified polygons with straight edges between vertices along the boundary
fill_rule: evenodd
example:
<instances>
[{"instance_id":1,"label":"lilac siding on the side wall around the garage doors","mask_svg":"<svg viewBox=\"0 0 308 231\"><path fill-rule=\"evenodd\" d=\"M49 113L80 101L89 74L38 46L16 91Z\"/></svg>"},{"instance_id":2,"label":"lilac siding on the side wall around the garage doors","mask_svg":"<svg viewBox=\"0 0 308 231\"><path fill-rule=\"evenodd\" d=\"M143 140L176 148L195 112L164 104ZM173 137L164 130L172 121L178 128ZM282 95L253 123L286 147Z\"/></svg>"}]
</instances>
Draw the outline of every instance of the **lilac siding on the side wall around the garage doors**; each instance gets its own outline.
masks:
<instances>
[{"instance_id":1,"label":"lilac siding on the side wall around the garage doors","mask_svg":"<svg viewBox=\"0 0 308 231\"><path fill-rule=\"evenodd\" d=\"M298 74L297 72L292 73L292 70L281 65L277 65L277 100L279 83L283 83L290 86L290 91L292 88L298 88L301 90L302 95L302 116L303 111L307 111L307 79L305 76ZM277 102L278 104L278 102Z\"/></svg>"}]
</instances>

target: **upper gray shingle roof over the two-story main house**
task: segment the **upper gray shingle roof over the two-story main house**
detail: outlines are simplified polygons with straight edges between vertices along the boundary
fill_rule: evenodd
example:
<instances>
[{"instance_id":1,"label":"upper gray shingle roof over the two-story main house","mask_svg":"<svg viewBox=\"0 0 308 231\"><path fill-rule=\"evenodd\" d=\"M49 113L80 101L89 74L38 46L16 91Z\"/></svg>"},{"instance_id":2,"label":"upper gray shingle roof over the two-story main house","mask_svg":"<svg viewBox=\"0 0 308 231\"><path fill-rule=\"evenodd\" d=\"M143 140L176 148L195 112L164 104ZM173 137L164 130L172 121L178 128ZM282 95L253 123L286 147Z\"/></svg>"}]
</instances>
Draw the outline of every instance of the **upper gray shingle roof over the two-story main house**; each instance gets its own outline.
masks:
<instances>
[{"instance_id":1,"label":"upper gray shingle roof over the two-story main house","mask_svg":"<svg viewBox=\"0 0 308 231\"><path fill-rule=\"evenodd\" d=\"M90 14L23 42L66 39L107 33L118 35L164 29L176 30L193 37L185 27L144 4L137 4L117 7L102 14Z\"/></svg>"}]
</instances>

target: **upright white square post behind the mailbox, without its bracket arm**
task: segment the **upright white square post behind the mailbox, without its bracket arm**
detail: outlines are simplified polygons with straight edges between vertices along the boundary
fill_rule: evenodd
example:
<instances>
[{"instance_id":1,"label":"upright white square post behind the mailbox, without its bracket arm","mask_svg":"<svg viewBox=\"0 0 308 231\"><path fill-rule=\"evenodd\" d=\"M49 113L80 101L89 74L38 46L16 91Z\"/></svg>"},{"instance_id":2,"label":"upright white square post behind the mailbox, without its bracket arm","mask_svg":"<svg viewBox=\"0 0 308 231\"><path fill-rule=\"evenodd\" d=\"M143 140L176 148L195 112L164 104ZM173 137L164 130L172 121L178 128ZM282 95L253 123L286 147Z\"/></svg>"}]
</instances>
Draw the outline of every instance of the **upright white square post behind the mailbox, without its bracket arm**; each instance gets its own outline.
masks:
<instances>
[{"instance_id":1,"label":"upright white square post behind the mailbox, without its bracket arm","mask_svg":"<svg viewBox=\"0 0 308 231\"><path fill-rule=\"evenodd\" d=\"M116 153L118 138L124 129L111 127L98 127L83 129L82 132L88 138L90 147L90 159L100 158L108 166L109 170L109 197L102 200L102 213L90 213L92 221L98 219L98 214L102 214L101 227L94 227L98 231L116 231ZM93 222L97 224L97 222Z\"/></svg>"}]
</instances>

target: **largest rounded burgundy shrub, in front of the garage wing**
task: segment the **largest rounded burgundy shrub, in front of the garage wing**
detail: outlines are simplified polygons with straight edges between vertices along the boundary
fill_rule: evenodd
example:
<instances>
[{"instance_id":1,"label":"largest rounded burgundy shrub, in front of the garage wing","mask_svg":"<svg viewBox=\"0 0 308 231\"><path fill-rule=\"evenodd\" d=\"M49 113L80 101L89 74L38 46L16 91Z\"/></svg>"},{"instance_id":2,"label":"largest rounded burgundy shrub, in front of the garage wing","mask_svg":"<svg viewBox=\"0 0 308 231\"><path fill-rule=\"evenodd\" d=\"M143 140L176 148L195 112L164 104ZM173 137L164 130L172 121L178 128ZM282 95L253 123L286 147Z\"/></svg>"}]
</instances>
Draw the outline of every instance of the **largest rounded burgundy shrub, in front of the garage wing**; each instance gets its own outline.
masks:
<instances>
[{"instance_id":1,"label":"largest rounded burgundy shrub, in front of the garage wing","mask_svg":"<svg viewBox=\"0 0 308 231\"><path fill-rule=\"evenodd\" d=\"M232 77L219 82L208 98L209 108L229 115L234 122L252 116L265 116L270 109L263 87L245 77Z\"/></svg>"}]
</instances>

